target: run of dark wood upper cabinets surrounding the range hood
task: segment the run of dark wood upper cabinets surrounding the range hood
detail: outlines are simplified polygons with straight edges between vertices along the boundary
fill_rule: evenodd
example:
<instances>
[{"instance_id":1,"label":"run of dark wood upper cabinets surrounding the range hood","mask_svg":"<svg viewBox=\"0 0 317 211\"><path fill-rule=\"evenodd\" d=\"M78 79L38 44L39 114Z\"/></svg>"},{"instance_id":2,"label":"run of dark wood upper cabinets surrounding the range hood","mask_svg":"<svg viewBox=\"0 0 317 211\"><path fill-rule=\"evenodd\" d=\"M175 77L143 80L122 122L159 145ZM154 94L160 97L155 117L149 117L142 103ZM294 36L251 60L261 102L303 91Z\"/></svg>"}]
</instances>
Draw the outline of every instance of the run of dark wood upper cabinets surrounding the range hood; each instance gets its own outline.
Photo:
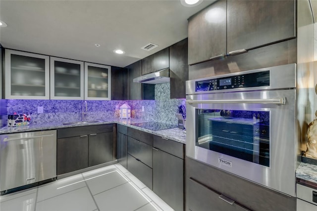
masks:
<instances>
[{"instance_id":1,"label":"run of dark wood upper cabinets surrounding the range hood","mask_svg":"<svg viewBox=\"0 0 317 211\"><path fill-rule=\"evenodd\" d=\"M129 100L155 100L154 84L134 83L133 79L141 76L141 73L144 75L165 68L170 68L170 98L185 98L185 81L188 80L188 39L130 64L126 68L129 70Z\"/></svg>"}]
</instances>

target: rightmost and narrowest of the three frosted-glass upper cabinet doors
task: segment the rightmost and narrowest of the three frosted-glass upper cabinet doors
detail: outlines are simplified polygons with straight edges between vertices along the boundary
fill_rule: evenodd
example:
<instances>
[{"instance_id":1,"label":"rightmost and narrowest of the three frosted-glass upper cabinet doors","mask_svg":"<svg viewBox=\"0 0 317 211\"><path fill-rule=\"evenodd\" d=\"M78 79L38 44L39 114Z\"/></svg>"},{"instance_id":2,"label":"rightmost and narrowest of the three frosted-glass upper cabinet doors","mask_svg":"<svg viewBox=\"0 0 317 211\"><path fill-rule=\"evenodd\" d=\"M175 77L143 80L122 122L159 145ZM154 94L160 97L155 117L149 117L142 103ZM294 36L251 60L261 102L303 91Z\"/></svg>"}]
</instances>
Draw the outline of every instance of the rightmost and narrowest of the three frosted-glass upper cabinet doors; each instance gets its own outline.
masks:
<instances>
[{"instance_id":1,"label":"rightmost and narrowest of the three frosted-glass upper cabinet doors","mask_svg":"<svg viewBox=\"0 0 317 211\"><path fill-rule=\"evenodd\" d=\"M111 100L111 67L85 62L85 99Z\"/></svg>"}]
</instances>

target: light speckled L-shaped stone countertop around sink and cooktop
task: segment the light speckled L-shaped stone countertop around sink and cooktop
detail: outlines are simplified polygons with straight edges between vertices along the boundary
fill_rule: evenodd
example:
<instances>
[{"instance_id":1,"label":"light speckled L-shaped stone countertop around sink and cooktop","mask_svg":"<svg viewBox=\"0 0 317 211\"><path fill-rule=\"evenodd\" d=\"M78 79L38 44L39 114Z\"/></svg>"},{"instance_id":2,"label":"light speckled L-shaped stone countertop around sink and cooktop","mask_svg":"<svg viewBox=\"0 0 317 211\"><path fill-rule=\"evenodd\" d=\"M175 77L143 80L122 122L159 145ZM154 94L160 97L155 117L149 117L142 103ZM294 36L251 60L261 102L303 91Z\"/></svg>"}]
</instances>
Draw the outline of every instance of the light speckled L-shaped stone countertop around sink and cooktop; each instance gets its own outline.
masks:
<instances>
[{"instance_id":1,"label":"light speckled L-shaped stone countertop around sink and cooktop","mask_svg":"<svg viewBox=\"0 0 317 211\"><path fill-rule=\"evenodd\" d=\"M31 123L30 125L20 126L20 127L8 127L8 126L2 127L0 129L0 134L39 131L39 130L53 130L53 129L67 128L67 127L117 123L117 124L122 124L131 128L135 128L144 132L148 132L160 137L164 137L176 142L186 144L186 132L182 129L179 129L176 127L172 129L153 131L153 130L131 125L132 123L139 123L139 122L146 122L146 121L142 119L133 119L133 118L131 119L113 118L113 119L100 120L100 122L90 122L90 123L76 124L76 125L74 124L63 125L62 122L53 122L53 123L46 123L46 124L32 124Z\"/></svg>"}]
</instances>

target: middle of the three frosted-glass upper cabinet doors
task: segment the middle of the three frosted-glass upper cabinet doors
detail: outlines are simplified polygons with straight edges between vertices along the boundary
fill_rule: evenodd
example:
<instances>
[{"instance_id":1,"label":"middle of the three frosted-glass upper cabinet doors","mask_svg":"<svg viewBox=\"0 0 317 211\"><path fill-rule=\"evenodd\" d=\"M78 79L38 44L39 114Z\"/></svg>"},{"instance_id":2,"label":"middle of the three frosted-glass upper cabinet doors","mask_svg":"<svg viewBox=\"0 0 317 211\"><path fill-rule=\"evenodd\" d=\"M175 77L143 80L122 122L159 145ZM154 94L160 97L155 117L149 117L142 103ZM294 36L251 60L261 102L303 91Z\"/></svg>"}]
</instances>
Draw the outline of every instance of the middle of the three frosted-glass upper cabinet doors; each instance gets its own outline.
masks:
<instances>
[{"instance_id":1,"label":"middle of the three frosted-glass upper cabinet doors","mask_svg":"<svg viewBox=\"0 0 317 211\"><path fill-rule=\"evenodd\" d=\"M51 57L51 99L84 100L84 62Z\"/></svg>"}]
</instances>

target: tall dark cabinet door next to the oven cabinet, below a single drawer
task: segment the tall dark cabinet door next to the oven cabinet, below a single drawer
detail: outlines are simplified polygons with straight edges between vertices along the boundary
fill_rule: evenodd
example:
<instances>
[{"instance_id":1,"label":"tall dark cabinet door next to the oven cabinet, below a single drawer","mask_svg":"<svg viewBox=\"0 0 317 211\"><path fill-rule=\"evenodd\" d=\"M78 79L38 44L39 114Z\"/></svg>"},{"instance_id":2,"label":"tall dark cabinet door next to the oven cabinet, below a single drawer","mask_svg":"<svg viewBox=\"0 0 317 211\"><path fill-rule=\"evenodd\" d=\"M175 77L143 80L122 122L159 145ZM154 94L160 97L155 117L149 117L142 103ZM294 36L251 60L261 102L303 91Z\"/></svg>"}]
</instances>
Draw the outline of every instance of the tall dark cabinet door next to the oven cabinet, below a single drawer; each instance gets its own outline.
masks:
<instances>
[{"instance_id":1,"label":"tall dark cabinet door next to the oven cabinet, below a single drawer","mask_svg":"<svg viewBox=\"0 0 317 211\"><path fill-rule=\"evenodd\" d=\"M153 192L175 211L184 210L184 160L153 150Z\"/></svg>"}]
</instances>

